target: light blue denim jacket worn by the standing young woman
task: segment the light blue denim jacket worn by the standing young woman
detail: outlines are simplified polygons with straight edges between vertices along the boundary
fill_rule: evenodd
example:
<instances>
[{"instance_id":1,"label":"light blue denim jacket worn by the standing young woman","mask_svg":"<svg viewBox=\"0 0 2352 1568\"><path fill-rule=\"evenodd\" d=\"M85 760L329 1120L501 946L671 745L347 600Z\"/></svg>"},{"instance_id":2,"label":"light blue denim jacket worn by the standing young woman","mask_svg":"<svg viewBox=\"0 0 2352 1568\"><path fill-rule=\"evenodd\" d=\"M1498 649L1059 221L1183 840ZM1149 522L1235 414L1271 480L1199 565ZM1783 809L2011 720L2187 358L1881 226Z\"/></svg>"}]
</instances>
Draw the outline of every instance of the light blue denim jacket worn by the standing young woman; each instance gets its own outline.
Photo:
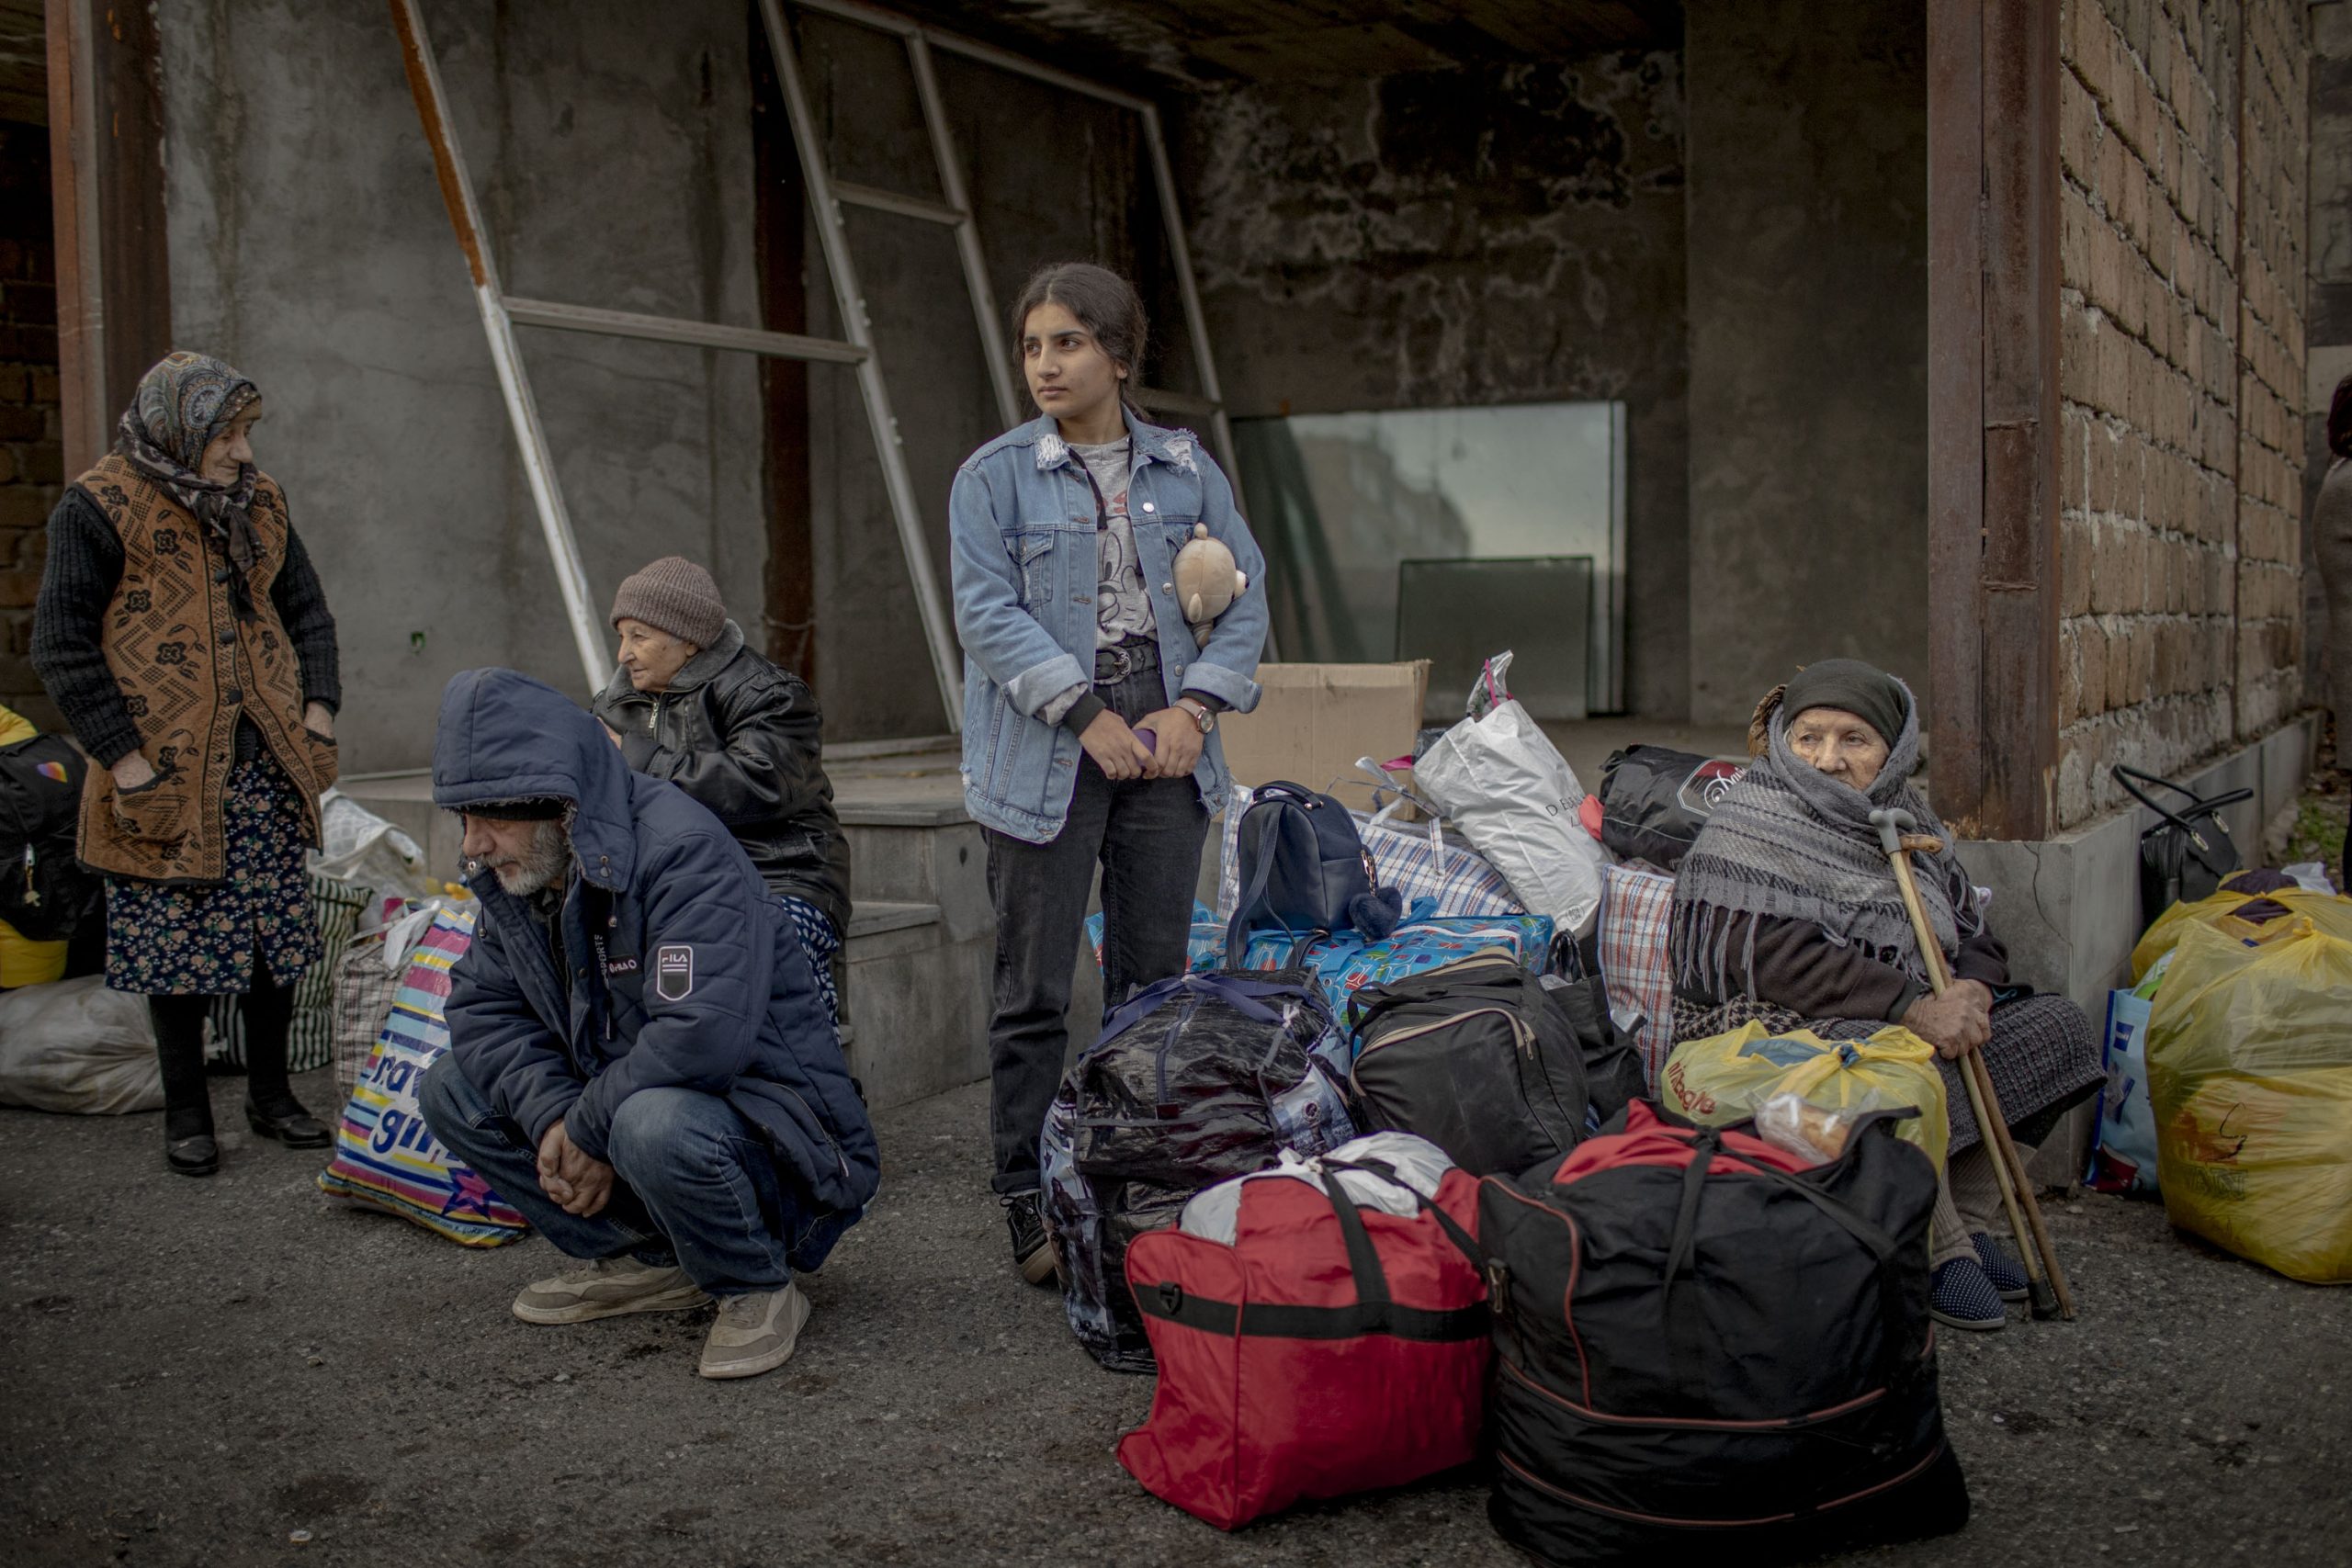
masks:
<instances>
[{"instance_id":1,"label":"light blue denim jacket worn by the standing young woman","mask_svg":"<svg viewBox=\"0 0 2352 1568\"><path fill-rule=\"evenodd\" d=\"M1249 712L1258 705L1268 614L1258 541L1232 508L1232 484L1190 430L1127 414L1127 515L1160 625L1167 698L1190 686ZM1077 736L1037 710L1094 682L1094 489L1049 414L964 458L948 496L955 635L964 644L964 804L983 827L1030 844L1061 832L1077 783ZM1249 592L1216 618L1209 646L1192 642L1171 571L1195 522L1207 522L1249 574ZM1209 811L1225 806L1221 741L1209 733L1192 773Z\"/></svg>"}]
</instances>

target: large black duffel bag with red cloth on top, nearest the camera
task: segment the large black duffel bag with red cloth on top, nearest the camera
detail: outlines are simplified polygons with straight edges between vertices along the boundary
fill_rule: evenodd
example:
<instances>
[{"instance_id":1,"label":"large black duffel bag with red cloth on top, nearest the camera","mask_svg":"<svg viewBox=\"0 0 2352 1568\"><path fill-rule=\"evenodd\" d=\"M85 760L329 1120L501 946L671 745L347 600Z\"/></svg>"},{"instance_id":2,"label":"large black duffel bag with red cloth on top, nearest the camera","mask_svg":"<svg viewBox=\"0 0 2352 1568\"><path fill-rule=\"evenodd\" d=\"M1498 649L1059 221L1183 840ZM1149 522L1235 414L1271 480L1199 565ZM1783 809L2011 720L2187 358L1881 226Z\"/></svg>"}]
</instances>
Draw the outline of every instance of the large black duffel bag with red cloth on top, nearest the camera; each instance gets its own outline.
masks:
<instances>
[{"instance_id":1,"label":"large black duffel bag with red cloth on top, nearest the camera","mask_svg":"<svg viewBox=\"0 0 2352 1568\"><path fill-rule=\"evenodd\" d=\"M1957 1530L1926 1232L1936 1168L1856 1124L1785 1171L1637 1100L1479 1182L1489 1519L1543 1563L1783 1561Z\"/></svg>"}]
</instances>

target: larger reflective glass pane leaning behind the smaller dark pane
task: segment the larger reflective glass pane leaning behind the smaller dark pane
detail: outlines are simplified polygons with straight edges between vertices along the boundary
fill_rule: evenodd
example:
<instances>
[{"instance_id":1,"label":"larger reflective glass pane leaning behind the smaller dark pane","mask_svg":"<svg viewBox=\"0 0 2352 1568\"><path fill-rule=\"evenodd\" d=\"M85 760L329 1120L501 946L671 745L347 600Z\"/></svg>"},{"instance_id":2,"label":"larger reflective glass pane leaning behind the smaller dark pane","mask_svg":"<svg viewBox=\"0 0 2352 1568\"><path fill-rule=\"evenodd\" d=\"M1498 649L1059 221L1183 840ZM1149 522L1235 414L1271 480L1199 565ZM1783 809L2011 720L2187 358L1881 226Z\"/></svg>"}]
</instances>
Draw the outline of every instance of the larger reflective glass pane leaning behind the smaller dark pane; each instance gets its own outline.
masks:
<instances>
[{"instance_id":1,"label":"larger reflective glass pane leaning behind the smaller dark pane","mask_svg":"<svg viewBox=\"0 0 2352 1568\"><path fill-rule=\"evenodd\" d=\"M1623 404L1237 418L1232 435L1251 527L1270 564L1284 658L1402 656L1397 569L1409 559L1590 557L1576 607L1588 639L1578 661L1585 708L1623 705ZM1557 574L1541 581L1566 592ZM1503 646L1494 642L1486 654ZM1432 682L1468 691L1475 672L1477 663L1468 672L1435 670ZM1552 684L1526 651L1519 677Z\"/></svg>"}]
</instances>

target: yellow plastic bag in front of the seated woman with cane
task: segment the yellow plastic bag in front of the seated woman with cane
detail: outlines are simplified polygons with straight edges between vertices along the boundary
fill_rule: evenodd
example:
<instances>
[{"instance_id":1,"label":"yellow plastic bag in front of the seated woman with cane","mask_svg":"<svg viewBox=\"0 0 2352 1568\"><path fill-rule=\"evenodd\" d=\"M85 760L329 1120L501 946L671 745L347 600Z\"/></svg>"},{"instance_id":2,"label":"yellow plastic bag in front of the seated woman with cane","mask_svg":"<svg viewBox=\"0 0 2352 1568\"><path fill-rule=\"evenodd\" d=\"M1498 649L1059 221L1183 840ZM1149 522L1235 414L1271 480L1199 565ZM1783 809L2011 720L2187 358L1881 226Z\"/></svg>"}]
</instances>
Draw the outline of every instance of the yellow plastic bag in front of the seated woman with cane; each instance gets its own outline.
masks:
<instances>
[{"instance_id":1,"label":"yellow plastic bag in front of the seated woman with cane","mask_svg":"<svg viewBox=\"0 0 2352 1568\"><path fill-rule=\"evenodd\" d=\"M1726 1126L1757 1112L1776 1093L1802 1095L1823 1110L1903 1110L1896 1135L1917 1143L1943 1171L1952 1121L1943 1107L1936 1046L1903 1025L1870 1039L1820 1039L1811 1030L1773 1034L1750 1023L1733 1034L1686 1039L1658 1074L1665 1103L1703 1126Z\"/></svg>"}]
</instances>

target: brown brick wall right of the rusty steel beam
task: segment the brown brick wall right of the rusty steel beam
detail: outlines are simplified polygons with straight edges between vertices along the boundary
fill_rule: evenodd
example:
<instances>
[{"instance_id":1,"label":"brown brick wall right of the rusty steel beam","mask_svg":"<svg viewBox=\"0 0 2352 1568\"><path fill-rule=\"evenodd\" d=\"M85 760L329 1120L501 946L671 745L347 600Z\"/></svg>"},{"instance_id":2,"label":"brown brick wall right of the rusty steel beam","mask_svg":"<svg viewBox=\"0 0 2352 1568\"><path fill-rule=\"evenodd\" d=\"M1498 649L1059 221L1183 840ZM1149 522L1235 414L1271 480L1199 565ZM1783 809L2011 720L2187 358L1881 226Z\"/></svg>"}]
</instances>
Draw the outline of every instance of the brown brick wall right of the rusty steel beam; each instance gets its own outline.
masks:
<instances>
[{"instance_id":1,"label":"brown brick wall right of the rusty steel beam","mask_svg":"<svg viewBox=\"0 0 2352 1568\"><path fill-rule=\"evenodd\" d=\"M2305 7L2065 0L2058 820L2300 705Z\"/></svg>"}]
</instances>

